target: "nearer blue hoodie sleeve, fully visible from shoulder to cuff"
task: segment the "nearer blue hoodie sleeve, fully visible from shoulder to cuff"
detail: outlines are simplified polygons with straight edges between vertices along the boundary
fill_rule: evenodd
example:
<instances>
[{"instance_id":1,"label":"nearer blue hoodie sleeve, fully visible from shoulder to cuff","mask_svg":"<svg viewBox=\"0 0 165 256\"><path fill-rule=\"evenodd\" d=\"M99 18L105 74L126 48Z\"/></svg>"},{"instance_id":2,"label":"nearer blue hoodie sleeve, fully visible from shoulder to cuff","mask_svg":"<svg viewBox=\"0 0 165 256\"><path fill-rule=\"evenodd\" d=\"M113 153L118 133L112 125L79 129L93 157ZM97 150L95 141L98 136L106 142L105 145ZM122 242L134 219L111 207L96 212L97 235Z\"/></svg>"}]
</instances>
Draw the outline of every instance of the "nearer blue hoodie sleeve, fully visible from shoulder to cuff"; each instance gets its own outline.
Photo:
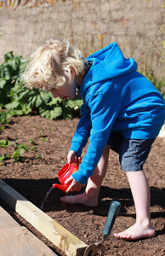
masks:
<instances>
[{"instance_id":1,"label":"nearer blue hoodie sleeve, fully visible from shoulder to cuff","mask_svg":"<svg viewBox=\"0 0 165 256\"><path fill-rule=\"evenodd\" d=\"M116 95L96 93L88 97L92 128L88 150L77 172L72 176L79 183L87 183L103 154L112 125L121 109L121 101ZM89 118L89 117L88 117Z\"/></svg>"}]
</instances>

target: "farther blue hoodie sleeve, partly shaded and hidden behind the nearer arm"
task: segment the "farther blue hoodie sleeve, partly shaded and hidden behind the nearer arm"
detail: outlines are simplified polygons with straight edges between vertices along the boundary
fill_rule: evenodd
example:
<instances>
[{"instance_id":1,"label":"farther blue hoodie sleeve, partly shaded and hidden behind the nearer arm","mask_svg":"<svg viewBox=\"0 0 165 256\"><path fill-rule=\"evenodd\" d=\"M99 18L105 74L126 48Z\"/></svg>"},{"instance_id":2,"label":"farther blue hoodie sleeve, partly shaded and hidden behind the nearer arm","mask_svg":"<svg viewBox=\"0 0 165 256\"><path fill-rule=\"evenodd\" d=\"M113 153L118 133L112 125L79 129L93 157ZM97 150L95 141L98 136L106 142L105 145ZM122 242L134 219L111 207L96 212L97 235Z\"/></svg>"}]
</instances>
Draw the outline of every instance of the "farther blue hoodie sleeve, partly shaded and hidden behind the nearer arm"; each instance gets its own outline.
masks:
<instances>
[{"instance_id":1,"label":"farther blue hoodie sleeve, partly shaded and hidden behind the nearer arm","mask_svg":"<svg viewBox=\"0 0 165 256\"><path fill-rule=\"evenodd\" d=\"M82 150L88 142L88 137L90 136L90 130L92 127L90 110L85 104L81 107L81 113L82 117L77 125L77 131L72 138L70 148L70 150L77 152L78 155L82 154Z\"/></svg>"}]
</instances>

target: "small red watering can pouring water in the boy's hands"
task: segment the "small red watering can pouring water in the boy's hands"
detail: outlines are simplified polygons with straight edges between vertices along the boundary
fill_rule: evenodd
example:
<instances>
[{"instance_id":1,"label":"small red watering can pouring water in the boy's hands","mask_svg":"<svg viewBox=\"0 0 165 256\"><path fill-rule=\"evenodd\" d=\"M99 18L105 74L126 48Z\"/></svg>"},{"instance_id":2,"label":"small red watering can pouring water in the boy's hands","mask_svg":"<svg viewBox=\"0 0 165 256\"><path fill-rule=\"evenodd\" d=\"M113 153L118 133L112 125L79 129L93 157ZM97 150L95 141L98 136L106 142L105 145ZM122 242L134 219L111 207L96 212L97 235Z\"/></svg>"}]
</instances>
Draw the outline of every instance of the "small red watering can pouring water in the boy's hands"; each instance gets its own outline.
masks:
<instances>
[{"instance_id":1,"label":"small red watering can pouring water in the boy's hands","mask_svg":"<svg viewBox=\"0 0 165 256\"><path fill-rule=\"evenodd\" d=\"M70 177L74 172L78 171L78 162L77 164L68 163L60 169L57 177L59 179L60 184L54 183L52 186L53 188L58 188L62 191L66 191L66 189L70 186L71 183L65 184L65 180Z\"/></svg>"}]
</instances>

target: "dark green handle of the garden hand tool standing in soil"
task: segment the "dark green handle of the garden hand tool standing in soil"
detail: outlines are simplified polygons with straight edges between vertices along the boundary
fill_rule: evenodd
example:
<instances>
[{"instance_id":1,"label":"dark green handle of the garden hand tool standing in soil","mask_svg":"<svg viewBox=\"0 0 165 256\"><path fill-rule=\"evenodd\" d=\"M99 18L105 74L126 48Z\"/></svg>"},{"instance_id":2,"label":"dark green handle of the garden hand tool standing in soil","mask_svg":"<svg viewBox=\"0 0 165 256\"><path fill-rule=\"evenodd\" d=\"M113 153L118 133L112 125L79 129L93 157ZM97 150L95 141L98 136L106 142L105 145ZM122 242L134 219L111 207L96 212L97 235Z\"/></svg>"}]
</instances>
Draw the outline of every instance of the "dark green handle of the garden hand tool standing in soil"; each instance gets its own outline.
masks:
<instances>
[{"instance_id":1,"label":"dark green handle of the garden hand tool standing in soil","mask_svg":"<svg viewBox=\"0 0 165 256\"><path fill-rule=\"evenodd\" d=\"M105 222L105 229L103 230L104 240L111 234L111 230L115 220L117 218L117 214L120 211L121 204L118 201L112 201L111 206L108 211L108 216Z\"/></svg>"}]
</instances>

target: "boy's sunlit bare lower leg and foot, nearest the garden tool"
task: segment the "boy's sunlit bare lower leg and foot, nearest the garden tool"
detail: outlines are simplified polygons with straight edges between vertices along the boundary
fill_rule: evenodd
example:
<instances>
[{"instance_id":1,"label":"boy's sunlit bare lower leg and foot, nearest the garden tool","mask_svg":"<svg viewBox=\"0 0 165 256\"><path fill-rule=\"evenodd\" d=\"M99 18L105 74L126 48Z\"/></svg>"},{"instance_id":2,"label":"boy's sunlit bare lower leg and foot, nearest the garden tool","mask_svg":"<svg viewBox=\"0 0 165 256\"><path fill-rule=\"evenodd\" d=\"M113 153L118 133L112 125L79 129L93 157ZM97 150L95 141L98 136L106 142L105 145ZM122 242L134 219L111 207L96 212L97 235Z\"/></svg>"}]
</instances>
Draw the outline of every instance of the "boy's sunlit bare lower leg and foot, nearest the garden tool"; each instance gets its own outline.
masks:
<instances>
[{"instance_id":1,"label":"boy's sunlit bare lower leg and foot, nearest the garden tool","mask_svg":"<svg viewBox=\"0 0 165 256\"><path fill-rule=\"evenodd\" d=\"M143 171L126 172L128 182L134 198L136 209L136 223L120 233L114 234L122 239L136 240L155 236L155 230L151 224L150 214L150 188Z\"/></svg>"}]
</instances>

